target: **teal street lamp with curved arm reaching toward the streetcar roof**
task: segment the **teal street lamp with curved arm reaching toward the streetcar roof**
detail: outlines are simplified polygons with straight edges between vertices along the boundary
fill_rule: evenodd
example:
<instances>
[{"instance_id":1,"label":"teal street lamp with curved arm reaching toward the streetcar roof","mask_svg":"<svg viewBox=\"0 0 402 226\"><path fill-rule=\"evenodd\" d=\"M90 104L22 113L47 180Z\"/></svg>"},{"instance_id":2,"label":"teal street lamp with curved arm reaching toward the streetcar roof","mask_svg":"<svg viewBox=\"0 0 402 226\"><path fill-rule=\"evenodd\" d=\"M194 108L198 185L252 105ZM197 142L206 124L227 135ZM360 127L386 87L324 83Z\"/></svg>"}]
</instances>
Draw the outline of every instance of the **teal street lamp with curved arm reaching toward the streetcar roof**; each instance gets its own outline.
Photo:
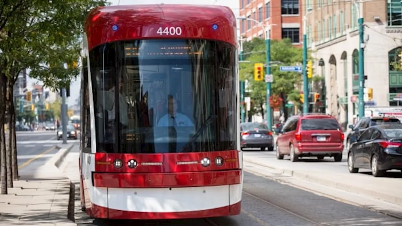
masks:
<instances>
[{"instance_id":1,"label":"teal street lamp with curved arm reaching toward the streetcar roof","mask_svg":"<svg viewBox=\"0 0 402 226\"><path fill-rule=\"evenodd\" d=\"M267 75L271 74L271 37L270 37L270 31L271 31L271 26L275 26L276 24L271 24L271 25L263 25L263 23L254 20L252 18L247 18L246 16L238 16L237 19L239 20L247 20L247 21L253 21L258 24L263 29L264 35L265 35L265 54L266 54L266 64L267 64ZM267 125L268 128L271 130L272 129L272 115L271 115L271 106L269 105L269 97L271 97L271 82L267 82L267 99L266 99L266 111L267 111Z\"/></svg>"}]
</instances>

